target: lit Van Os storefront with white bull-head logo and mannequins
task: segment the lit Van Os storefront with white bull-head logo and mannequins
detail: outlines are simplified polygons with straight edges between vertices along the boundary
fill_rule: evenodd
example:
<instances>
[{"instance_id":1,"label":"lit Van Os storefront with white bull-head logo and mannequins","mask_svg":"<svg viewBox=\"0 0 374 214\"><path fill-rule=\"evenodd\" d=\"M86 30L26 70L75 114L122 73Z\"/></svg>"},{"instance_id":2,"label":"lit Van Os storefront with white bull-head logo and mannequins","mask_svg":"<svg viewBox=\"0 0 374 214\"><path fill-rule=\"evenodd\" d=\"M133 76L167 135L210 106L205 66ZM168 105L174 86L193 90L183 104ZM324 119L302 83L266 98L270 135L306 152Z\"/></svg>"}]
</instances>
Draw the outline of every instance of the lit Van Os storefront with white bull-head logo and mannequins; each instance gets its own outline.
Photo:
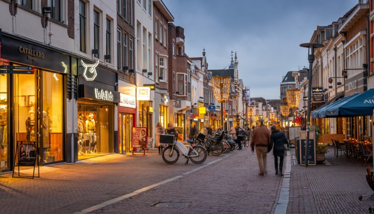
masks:
<instances>
[{"instance_id":1,"label":"lit Van Os storefront with white bull-head logo and mannequins","mask_svg":"<svg viewBox=\"0 0 374 214\"><path fill-rule=\"evenodd\" d=\"M118 152L114 130L114 112L120 103L115 85L117 74L101 67L98 61L79 60L79 64L82 75L78 80L78 144L74 154L81 160Z\"/></svg>"}]
</instances>

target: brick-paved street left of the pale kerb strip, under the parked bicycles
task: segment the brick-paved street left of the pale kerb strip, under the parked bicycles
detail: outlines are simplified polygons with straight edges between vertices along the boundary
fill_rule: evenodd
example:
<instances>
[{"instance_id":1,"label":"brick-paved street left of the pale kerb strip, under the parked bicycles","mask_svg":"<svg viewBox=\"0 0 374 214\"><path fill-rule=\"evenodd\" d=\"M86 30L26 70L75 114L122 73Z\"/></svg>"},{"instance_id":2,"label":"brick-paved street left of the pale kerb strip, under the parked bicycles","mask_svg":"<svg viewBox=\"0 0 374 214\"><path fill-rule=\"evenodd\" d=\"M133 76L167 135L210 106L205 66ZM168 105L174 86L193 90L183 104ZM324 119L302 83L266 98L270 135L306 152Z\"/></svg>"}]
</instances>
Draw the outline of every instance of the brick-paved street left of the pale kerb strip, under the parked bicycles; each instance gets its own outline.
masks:
<instances>
[{"instance_id":1,"label":"brick-paved street left of the pale kerb strip, under the parked bicycles","mask_svg":"<svg viewBox=\"0 0 374 214\"><path fill-rule=\"evenodd\" d=\"M174 165L164 163L157 149L147 156L114 156L115 159L103 157L102 161L91 163L41 167L40 178L35 179L1 174L1 214L76 213L134 192L139 194L93 213L272 213L275 210L282 179L274 175L272 155L264 177L257 175L256 156L249 148L235 150L229 156L209 155L203 164L189 162L187 166L184 157ZM153 188L142 191L145 187ZM175 206L183 203L188 207Z\"/></svg>"}]
</instances>

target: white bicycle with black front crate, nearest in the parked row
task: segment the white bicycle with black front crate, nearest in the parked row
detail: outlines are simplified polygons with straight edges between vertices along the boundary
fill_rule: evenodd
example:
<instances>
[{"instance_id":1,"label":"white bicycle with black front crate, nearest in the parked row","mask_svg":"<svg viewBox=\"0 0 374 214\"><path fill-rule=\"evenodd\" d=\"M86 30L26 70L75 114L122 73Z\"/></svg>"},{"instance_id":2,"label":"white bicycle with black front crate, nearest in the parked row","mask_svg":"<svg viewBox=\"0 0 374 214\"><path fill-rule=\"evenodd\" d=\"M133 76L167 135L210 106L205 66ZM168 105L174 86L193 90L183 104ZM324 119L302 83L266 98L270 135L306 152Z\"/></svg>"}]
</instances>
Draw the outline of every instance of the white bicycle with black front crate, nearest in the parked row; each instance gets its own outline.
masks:
<instances>
[{"instance_id":1,"label":"white bicycle with black front crate, nearest in the parked row","mask_svg":"<svg viewBox=\"0 0 374 214\"><path fill-rule=\"evenodd\" d=\"M188 160L191 160L194 164L202 164L206 159L204 147L199 145L192 147L190 141L188 142L188 147L186 147L182 142L175 140L175 135L161 134L160 143L169 144L162 152L163 160L167 164L175 164L179 159L180 153L187 158L185 165L188 164Z\"/></svg>"}]
</instances>

